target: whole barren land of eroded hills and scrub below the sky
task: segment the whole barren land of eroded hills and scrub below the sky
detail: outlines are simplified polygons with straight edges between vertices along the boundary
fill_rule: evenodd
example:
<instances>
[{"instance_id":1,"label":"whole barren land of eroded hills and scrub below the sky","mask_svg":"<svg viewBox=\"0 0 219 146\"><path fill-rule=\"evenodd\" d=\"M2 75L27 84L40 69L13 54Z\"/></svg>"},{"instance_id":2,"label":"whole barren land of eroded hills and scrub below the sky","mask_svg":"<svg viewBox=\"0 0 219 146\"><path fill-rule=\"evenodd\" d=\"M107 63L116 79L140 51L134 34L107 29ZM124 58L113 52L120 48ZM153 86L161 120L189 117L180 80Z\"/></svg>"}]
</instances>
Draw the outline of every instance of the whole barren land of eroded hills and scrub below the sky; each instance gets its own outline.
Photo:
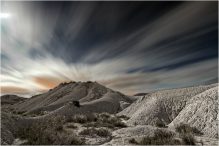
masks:
<instances>
[{"instance_id":1,"label":"whole barren land of eroded hills and scrub below the sky","mask_svg":"<svg viewBox=\"0 0 219 146\"><path fill-rule=\"evenodd\" d=\"M218 144L218 84L136 98L70 82L10 107L1 144Z\"/></svg>"}]
</instances>

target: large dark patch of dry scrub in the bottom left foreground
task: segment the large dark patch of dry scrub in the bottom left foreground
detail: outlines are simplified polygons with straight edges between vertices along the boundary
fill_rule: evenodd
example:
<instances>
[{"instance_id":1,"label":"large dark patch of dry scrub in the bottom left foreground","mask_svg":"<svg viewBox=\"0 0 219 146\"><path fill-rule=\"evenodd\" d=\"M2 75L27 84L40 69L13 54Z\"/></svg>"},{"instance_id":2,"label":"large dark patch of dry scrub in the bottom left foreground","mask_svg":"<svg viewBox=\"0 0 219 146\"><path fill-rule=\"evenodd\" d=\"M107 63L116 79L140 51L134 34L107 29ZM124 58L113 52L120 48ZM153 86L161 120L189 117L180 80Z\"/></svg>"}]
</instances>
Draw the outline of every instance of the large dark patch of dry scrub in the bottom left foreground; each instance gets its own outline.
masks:
<instances>
[{"instance_id":1,"label":"large dark patch of dry scrub in the bottom left foreground","mask_svg":"<svg viewBox=\"0 0 219 146\"><path fill-rule=\"evenodd\" d=\"M62 127L64 121L63 117L41 120L26 128L20 128L15 137L27 139L25 144L28 145L85 144L76 135L69 136L69 133L64 131Z\"/></svg>"}]
</instances>

